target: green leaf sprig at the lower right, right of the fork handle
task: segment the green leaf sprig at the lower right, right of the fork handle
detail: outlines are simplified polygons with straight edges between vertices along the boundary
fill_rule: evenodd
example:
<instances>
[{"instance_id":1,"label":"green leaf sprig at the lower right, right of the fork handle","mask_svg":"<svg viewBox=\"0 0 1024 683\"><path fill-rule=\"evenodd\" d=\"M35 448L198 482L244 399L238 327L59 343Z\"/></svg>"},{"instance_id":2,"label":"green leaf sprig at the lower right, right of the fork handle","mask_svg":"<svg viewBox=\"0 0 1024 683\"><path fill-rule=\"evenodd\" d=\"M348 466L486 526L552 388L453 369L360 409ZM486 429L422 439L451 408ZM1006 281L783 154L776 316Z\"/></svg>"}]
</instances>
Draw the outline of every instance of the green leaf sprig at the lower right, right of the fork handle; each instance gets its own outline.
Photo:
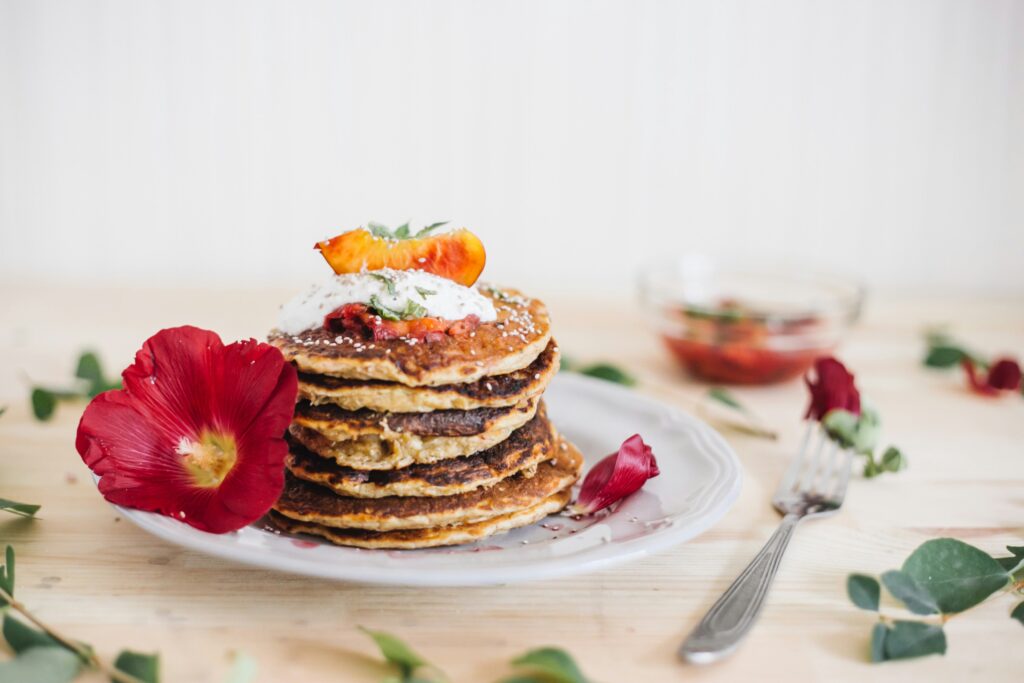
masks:
<instances>
[{"instance_id":1,"label":"green leaf sprig at the lower right, right of the fork handle","mask_svg":"<svg viewBox=\"0 0 1024 683\"><path fill-rule=\"evenodd\" d=\"M853 573L846 591L857 607L879 612L871 629L871 661L945 654L945 623L993 594L1011 589L1024 594L1024 546L1010 546L1010 557L994 558L956 539L934 539L914 550L899 569L886 571L881 586L913 614L937 620L897 620L880 611L879 580ZM1010 616L1024 624L1024 602Z\"/></svg>"}]
</instances>

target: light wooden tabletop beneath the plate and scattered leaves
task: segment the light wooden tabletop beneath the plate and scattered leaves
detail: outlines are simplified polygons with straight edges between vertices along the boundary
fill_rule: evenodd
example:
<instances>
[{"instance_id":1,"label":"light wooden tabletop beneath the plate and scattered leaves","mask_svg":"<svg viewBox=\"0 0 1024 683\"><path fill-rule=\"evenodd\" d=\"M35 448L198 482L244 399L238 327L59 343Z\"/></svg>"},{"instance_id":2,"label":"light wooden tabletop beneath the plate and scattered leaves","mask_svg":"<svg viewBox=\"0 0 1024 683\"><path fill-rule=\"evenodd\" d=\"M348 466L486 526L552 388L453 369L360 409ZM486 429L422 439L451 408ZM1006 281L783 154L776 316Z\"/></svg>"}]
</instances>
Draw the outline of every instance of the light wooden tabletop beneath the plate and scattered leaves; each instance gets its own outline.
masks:
<instances>
[{"instance_id":1,"label":"light wooden tabletop beneath the plate and scattered leaves","mask_svg":"<svg viewBox=\"0 0 1024 683\"><path fill-rule=\"evenodd\" d=\"M760 625L729 660L697 669L675 648L761 547L777 518L770 492L794 452L799 382L735 393L781 432L726 437L745 479L735 507L694 541L618 568L476 589L349 586L272 573L159 541L118 518L74 449L79 407L47 424L28 410L28 377L60 383L85 347L113 369L161 327L190 323L225 340L260 337L286 292L141 292L8 285L0 307L0 496L43 506L0 517L18 553L20 599L104 657L159 650L166 681L221 681L229 654L255 657L260 681L378 681L387 674L356 625L392 631L453 681L489 683L527 648L556 644L606 683L679 680L1020 680L1021 627L1001 596L953 618L949 651L866 663L872 616L849 604L850 571L893 568L922 542L953 536L989 552L1024 542L1024 400L969 394L957 373L924 370L921 330L948 322L980 349L1024 352L1024 302L914 300L876 294L842 350L881 410L884 439L910 468L851 485L837 517L807 524L782 564ZM544 293L539 293L544 294ZM658 348L629 302L552 299L562 348L634 371L649 392L692 408L703 387ZM1016 660L1015 660L1016 659ZM100 680L98 677L92 680Z\"/></svg>"}]
</instances>

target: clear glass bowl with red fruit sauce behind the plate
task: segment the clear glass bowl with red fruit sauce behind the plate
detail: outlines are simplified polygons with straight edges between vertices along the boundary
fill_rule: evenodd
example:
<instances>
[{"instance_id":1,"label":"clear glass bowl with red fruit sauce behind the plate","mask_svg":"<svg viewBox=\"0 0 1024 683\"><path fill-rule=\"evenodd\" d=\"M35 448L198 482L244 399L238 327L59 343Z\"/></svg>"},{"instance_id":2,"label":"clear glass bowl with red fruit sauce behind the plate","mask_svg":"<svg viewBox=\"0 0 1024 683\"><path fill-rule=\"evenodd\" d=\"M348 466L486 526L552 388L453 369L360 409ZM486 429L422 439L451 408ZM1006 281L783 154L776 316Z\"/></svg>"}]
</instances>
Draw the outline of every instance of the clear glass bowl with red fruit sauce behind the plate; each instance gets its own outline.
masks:
<instances>
[{"instance_id":1,"label":"clear glass bowl with red fruit sauce behind the plate","mask_svg":"<svg viewBox=\"0 0 1024 683\"><path fill-rule=\"evenodd\" d=\"M698 255L651 264L641 297L668 349L693 376L770 384L803 375L860 315L864 290L844 278L731 266Z\"/></svg>"}]
</instances>

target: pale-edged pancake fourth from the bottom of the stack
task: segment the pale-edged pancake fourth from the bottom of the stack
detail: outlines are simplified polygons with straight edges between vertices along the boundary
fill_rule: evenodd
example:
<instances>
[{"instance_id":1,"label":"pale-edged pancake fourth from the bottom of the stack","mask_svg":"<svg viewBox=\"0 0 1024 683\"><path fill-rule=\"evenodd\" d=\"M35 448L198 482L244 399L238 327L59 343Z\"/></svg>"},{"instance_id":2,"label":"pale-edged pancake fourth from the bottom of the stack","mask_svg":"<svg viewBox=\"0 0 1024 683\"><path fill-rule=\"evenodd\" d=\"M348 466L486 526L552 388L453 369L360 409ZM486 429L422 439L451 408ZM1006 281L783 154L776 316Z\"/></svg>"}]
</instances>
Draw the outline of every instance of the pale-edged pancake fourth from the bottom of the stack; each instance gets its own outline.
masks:
<instances>
[{"instance_id":1,"label":"pale-edged pancake fourth from the bottom of the stack","mask_svg":"<svg viewBox=\"0 0 1024 683\"><path fill-rule=\"evenodd\" d=\"M385 430L379 435L368 434L355 438L335 440L345 436L345 427L340 430L330 422L317 423L317 428L304 426L296 418L289 433L309 451L333 459L339 465L362 470L393 470L417 463L436 463L451 458L470 456L497 445L509 435L529 422L537 413L540 401L531 399L526 405L510 409L500 419L484 425L484 431L467 436L421 436L409 432ZM503 409L481 409L503 410ZM463 411L454 411L463 413ZM399 415L428 416L431 413ZM390 424L390 418L389 418ZM457 425L458 426L458 425ZM466 425L463 425L466 428ZM321 429L329 432L325 434Z\"/></svg>"}]
</instances>

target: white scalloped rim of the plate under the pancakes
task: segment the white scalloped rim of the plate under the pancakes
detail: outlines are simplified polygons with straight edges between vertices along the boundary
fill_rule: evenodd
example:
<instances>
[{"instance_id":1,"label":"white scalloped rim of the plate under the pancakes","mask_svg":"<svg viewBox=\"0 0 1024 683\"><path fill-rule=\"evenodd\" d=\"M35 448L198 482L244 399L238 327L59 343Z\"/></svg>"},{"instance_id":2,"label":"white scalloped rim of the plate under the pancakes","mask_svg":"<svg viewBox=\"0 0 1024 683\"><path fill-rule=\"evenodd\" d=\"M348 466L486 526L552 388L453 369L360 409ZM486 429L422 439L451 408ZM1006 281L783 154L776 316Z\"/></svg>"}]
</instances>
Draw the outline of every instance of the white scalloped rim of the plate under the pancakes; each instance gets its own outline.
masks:
<instances>
[{"instance_id":1,"label":"white scalloped rim of the plate under the pancakes","mask_svg":"<svg viewBox=\"0 0 1024 683\"><path fill-rule=\"evenodd\" d=\"M125 518L129 519L133 524L140 527L144 531L162 539L163 541L214 557L258 568L356 584L373 584L381 586L460 587L493 586L524 581L556 579L570 574L604 569L646 557L667 548L685 543L686 541L689 541L708 530L720 521L735 503L742 485L742 468L739 464L739 460L732 451L732 447L725 441L721 434L705 422L675 407L669 405L644 394L637 393L633 390L589 377L572 374L566 375L565 373L562 373L559 374L552 382L551 387L549 387L549 394L546 395L546 398L550 397L554 399L549 399L548 403L549 413L554 416L553 419L556 426L559 426L558 414L571 410L567 408L567 404L562 405L560 401L565 400L567 403L573 392L578 392L581 396L591 396L600 401L606 402L609 404L609 408L614 408L615 404L625 402L633 410L646 414L648 418L658 420L659 423L662 423L659 429L666 430L667 432L672 432L673 430L683 430L689 433L693 438L701 441L701 445L706 446L707 450L702 451L699 456L721 468L718 472L719 476L712 482L716 484L715 490L711 492L713 500L709 501L705 509L698 511L699 514L695 518L686 520L686 523L683 525L677 526L670 522L666 527L656 528L649 532L636 536L635 538L615 541L613 543L606 542L591 548L585 548L581 553L566 557L530 558L528 557L528 554L529 551L532 551L534 549L527 549L525 545L523 546L523 549L520 549L519 546L502 546L502 548L507 552L503 555L503 561L501 564L475 562L473 561L474 558L489 555L489 553L481 553L477 555L469 550L464 550L464 547L454 547L454 549L387 551L339 548L330 544L323 544L315 548L315 550L324 549L331 554L350 554L354 558L380 554L393 557L395 554L398 554L401 557L408 556L410 558L419 555L428 555L430 557L441 555L446 557L460 557L466 560L465 562L462 562L463 566L443 569L417 566L417 561L415 559L408 562L407 565L402 565L402 562L400 561L396 563L397 566L392 565L383 567L380 563L359 562L357 560L344 563L329 561L323 557L317 557L316 553L310 552L299 552L293 554L293 552L289 550L286 553L282 553L265 546L261 547L258 543L249 542L249 537L252 535L259 535L260 537L276 537L276 535L257 528L255 525L232 533L207 533L188 526L183 522L157 513L128 509L118 505L113 505L113 507L119 510L121 514L124 515ZM560 398L560 394L565 394L565 396ZM655 418L655 416L657 417ZM666 420L671 423L670 426L666 426L664 424ZM569 428L565 431L567 432L566 436L570 439L578 438L573 433L572 426L569 426ZM683 433L683 431L679 431L679 433ZM629 434L623 435L623 438L628 435ZM646 439L647 435L644 435L644 437ZM612 446L612 450L613 447L614 446ZM655 449L654 453L658 458L658 464L663 472L662 476L666 476L665 473L667 469L674 465L672 462L672 456L666 453L665 450L659 449ZM606 455L606 453L602 452L600 456L588 456L588 465L592 464L593 461L599 459L603 455ZM689 458L692 456L684 457ZM657 482L658 478L651 479L650 482L648 482L648 485ZM635 495L633 498L642 494L643 490L641 494ZM629 502L630 499L627 499L627 501L624 501L624 505L629 504ZM622 514L624 514L623 509L618 509L615 510L608 518L610 519L614 515ZM676 517L679 516L677 515ZM548 520L552 519L568 523L568 520L565 520L564 518L548 518ZM671 520L674 518L667 517L666 519ZM537 529L538 526L539 524L535 524L534 526L527 528ZM477 544L473 544L473 546L487 547L495 544L496 541L507 542L512 535L519 532L519 530L515 530L509 535L484 539L477 542ZM282 540L289 539L289 537L284 535L276 538ZM253 541L258 542L260 540L253 537ZM557 544L559 541L554 540L550 543ZM612 548L611 551L603 550L609 547ZM472 546L470 546L470 548L472 548ZM313 549L310 548L309 550ZM508 558L512 561L506 561L505 558L507 557L507 554L515 555L517 551L520 557ZM431 561L432 560L427 560L424 563L430 564ZM443 564L444 562L441 560L439 563Z\"/></svg>"}]
</instances>

